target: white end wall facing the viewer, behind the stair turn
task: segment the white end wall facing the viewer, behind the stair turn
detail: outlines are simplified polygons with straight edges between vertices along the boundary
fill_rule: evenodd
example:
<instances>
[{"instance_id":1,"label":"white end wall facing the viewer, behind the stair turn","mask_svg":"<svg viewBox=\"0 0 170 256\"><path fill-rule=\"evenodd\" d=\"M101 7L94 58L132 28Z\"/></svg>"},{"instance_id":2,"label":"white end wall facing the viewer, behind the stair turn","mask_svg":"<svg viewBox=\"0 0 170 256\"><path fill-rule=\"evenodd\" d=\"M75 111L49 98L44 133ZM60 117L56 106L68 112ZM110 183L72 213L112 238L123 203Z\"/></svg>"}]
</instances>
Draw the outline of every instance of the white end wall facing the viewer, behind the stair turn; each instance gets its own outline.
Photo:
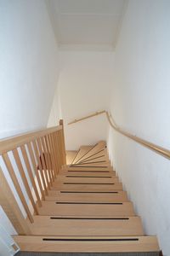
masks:
<instances>
[{"instance_id":1,"label":"white end wall facing the viewer, behind the stair turn","mask_svg":"<svg viewBox=\"0 0 170 256\"><path fill-rule=\"evenodd\" d=\"M94 117L74 125L66 124L73 119L109 107L113 59L112 52L60 52L59 96L62 117L65 120L67 149L77 149L80 145L106 139L105 116Z\"/></svg>"}]
</instances>

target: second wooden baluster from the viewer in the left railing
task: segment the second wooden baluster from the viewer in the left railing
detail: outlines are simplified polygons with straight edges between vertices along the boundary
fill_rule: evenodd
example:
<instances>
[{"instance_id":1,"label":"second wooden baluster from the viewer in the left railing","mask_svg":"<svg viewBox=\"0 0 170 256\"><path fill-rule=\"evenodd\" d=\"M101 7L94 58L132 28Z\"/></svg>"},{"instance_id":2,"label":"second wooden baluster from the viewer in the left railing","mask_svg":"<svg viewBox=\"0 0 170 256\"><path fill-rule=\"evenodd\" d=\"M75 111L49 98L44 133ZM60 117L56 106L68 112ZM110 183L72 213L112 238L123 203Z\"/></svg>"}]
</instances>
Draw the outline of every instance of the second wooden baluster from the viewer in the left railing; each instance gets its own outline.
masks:
<instances>
[{"instance_id":1,"label":"second wooden baluster from the viewer in the left railing","mask_svg":"<svg viewBox=\"0 0 170 256\"><path fill-rule=\"evenodd\" d=\"M34 201L34 199L33 199L32 194L31 194L31 189L30 189L29 183L28 183L28 181L27 181L26 173L25 173L24 168L23 168L23 166L22 166L22 163L21 163L21 160L20 160L20 155L19 155L19 153L18 153L17 148L14 148L14 150L13 150L13 155L14 155L14 160L15 160L15 162L16 162L16 165L17 165L17 167L18 167L18 169L19 169L20 176L21 176L22 181L23 181L23 183L24 183L24 185L25 185L27 195L28 195L28 197L29 197L29 199L30 199L30 201L31 201L31 205L32 205L32 207L34 208L35 213L38 214L37 206L36 206L36 203L35 203L35 201Z\"/></svg>"}]
</instances>

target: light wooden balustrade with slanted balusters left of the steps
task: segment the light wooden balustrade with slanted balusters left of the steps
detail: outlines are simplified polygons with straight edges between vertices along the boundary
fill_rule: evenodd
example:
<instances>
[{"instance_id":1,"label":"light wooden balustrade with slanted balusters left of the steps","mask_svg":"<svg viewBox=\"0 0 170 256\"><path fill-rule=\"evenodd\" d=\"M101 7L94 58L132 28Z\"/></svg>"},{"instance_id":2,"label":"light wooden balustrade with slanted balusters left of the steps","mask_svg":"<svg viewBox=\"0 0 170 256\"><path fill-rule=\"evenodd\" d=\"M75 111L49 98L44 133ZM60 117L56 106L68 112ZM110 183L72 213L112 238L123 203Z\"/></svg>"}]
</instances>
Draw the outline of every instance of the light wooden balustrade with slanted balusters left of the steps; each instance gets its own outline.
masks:
<instances>
[{"instance_id":1,"label":"light wooden balustrade with slanted balusters left of the steps","mask_svg":"<svg viewBox=\"0 0 170 256\"><path fill-rule=\"evenodd\" d=\"M31 234L33 215L65 163L63 120L56 127L0 140L0 205L18 234Z\"/></svg>"}]
</instances>

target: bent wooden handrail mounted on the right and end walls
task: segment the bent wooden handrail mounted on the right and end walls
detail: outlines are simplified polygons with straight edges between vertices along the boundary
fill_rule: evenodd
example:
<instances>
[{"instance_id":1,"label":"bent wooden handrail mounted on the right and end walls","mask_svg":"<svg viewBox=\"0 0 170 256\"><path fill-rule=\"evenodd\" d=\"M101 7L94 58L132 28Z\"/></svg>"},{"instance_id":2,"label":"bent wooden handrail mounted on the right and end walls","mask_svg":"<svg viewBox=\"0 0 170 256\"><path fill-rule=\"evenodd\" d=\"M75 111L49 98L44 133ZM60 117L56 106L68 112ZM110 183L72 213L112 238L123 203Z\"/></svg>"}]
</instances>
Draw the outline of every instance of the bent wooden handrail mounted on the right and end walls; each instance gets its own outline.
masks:
<instances>
[{"instance_id":1,"label":"bent wooden handrail mounted on the right and end walls","mask_svg":"<svg viewBox=\"0 0 170 256\"><path fill-rule=\"evenodd\" d=\"M140 137L134 136L134 135L130 134L129 132L122 130L120 127L118 127L115 124L115 122L111 118L111 114L109 114L108 111L106 111L106 110L96 112L96 113L92 113L92 114L90 114L88 116L85 116L81 119L75 119L74 121L70 122L68 125L77 123L77 122L82 121L84 119L94 117L94 116L99 115L101 113L105 113L105 116L106 116L109 124L111 125L111 127L115 131L117 131L117 132L121 133L122 135L124 135L125 137L128 137L128 138L132 139L133 141L143 145L145 148L150 148L150 150L155 151L157 154L161 154L163 157L165 157L167 159L170 159L170 150L169 149L162 148L161 146L158 146L155 143L150 143L150 142L148 142L148 141L146 141L146 140L144 140Z\"/></svg>"}]
</instances>

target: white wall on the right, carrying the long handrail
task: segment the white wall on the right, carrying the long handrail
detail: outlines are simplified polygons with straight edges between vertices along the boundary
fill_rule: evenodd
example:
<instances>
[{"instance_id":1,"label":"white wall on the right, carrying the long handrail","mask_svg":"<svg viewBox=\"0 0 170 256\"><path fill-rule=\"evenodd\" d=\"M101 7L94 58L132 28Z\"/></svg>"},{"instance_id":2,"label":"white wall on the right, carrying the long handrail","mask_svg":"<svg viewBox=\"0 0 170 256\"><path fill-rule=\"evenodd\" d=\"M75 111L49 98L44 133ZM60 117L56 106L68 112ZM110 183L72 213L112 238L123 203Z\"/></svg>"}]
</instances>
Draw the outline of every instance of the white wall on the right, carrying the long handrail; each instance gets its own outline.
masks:
<instances>
[{"instance_id":1,"label":"white wall on the right, carrying the long handrail","mask_svg":"<svg viewBox=\"0 0 170 256\"><path fill-rule=\"evenodd\" d=\"M170 1L129 1L111 99L118 125L165 148L170 148L169 27ZM164 255L170 255L170 161L114 131L108 143L145 232L157 235Z\"/></svg>"}]
</instances>

